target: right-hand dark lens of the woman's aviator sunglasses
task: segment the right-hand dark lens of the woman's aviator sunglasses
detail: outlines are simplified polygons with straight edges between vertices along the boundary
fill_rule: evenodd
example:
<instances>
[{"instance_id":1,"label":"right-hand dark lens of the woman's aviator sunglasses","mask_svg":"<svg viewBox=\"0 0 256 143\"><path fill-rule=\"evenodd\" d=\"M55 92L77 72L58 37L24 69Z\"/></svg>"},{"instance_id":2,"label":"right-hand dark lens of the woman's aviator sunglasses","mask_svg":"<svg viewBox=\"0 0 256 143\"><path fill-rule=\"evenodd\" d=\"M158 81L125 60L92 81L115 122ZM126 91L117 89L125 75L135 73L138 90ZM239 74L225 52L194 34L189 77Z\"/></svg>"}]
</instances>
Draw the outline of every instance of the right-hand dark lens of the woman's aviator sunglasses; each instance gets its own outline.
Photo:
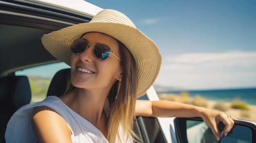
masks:
<instances>
[{"instance_id":1,"label":"right-hand dark lens of the woman's aviator sunglasses","mask_svg":"<svg viewBox=\"0 0 256 143\"><path fill-rule=\"evenodd\" d=\"M106 44L96 44L94 46L94 54L100 60L108 59L110 53L110 47Z\"/></svg>"}]
</instances>

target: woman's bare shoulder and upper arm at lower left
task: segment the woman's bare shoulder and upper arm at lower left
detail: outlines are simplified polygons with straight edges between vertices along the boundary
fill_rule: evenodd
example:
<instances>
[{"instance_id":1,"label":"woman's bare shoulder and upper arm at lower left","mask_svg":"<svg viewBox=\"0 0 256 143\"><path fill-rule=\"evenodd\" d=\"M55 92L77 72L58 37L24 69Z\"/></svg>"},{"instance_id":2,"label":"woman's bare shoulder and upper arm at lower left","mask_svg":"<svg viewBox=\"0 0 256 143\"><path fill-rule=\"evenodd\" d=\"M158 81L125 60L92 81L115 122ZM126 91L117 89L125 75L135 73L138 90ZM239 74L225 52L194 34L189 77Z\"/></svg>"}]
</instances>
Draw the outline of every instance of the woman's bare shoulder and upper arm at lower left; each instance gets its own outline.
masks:
<instances>
[{"instance_id":1,"label":"woman's bare shoulder and upper arm at lower left","mask_svg":"<svg viewBox=\"0 0 256 143\"><path fill-rule=\"evenodd\" d=\"M72 143L72 132L66 121L52 108L47 106L34 108L31 126L37 143Z\"/></svg>"}]
</instances>

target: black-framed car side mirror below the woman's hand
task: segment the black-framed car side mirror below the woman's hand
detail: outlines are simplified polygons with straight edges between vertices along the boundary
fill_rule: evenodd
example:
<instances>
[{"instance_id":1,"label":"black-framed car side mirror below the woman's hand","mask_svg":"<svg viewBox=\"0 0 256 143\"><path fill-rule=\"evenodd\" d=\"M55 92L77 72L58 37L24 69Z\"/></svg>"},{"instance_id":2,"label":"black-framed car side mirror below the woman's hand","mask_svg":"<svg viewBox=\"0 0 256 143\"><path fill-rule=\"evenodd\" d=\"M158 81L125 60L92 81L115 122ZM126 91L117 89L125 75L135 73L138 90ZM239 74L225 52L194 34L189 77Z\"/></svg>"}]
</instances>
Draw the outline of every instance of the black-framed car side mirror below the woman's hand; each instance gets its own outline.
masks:
<instances>
[{"instance_id":1,"label":"black-framed car side mirror below the woman's hand","mask_svg":"<svg viewBox=\"0 0 256 143\"><path fill-rule=\"evenodd\" d=\"M176 118L174 125L179 143L256 143L256 125L246 121L235 121L231 132L220 141L201 118ZM222 122L218 129L224 129Z\"/></svg>"}]
</instances>

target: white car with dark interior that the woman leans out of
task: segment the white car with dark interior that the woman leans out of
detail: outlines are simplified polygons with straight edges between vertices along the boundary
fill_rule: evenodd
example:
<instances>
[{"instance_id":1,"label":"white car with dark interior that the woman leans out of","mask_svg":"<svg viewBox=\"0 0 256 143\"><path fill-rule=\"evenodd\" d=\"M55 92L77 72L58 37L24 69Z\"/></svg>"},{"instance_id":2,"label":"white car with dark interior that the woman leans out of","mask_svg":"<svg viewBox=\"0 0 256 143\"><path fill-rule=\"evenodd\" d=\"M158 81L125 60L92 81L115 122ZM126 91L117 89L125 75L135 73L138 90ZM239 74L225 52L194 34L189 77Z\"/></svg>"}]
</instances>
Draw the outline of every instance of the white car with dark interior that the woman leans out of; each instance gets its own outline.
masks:
<instances>
[{"instance_id":1,"label":"white car with dark interior that the woman leans out of","mask_svg":"<svg viewBox=\"0 0 256 143\"><path fill-rule=\"evenodd\" d=\"M49 54L41 44L41 36L67 26L89 22L101 10L82 0L0 0L0 143L5 143L4 133L11 115L21 106L36 102L33 101L37 98L36 92L31 90L38 85L33 81L39 80L42 84L44 80L32 80L32 77L19 74L20 71L43 67L44 73L47 73L46 66L56 68L56 75L45 97L47 94L63 93L61 89L65 87L70 67ZM62 68L56 66L59 64ZM139 99L159 100L159 97L151 86ZM201 118L136 119L134 131L145 143L217 142ZM219 129L223 130L223 124L219 125ZM256 143L256 123L235 121L232 132L220 142Z\"/></svg>"}]
</instances>

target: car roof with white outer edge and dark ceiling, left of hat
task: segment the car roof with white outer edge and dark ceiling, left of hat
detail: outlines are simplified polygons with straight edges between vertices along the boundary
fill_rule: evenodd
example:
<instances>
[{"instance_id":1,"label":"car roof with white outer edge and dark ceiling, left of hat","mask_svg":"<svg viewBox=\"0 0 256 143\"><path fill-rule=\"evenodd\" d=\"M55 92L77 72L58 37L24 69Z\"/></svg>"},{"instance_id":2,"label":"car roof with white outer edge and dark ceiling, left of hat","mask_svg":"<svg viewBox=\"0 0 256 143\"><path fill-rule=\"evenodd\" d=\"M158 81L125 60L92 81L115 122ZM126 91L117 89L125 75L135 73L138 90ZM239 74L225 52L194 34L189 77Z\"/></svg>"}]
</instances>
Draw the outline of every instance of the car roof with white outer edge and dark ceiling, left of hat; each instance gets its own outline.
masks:
<instances>
[{"instance_id":1,"label":"car roof with white outer edge and dark ceiling, left of hat","mask_svg":"<svg viewBox=\"0 0 256 143\"><path fill-rule=\"evenodd\" d=\"M62 3L60 3L62 2ZM42 45L44 34L90 22L102 9L82 0L17 0L0 1L0 77L16 70L60 62ZM84 9L74 9L77 5Z\"/></svg>"}]
</instances>

